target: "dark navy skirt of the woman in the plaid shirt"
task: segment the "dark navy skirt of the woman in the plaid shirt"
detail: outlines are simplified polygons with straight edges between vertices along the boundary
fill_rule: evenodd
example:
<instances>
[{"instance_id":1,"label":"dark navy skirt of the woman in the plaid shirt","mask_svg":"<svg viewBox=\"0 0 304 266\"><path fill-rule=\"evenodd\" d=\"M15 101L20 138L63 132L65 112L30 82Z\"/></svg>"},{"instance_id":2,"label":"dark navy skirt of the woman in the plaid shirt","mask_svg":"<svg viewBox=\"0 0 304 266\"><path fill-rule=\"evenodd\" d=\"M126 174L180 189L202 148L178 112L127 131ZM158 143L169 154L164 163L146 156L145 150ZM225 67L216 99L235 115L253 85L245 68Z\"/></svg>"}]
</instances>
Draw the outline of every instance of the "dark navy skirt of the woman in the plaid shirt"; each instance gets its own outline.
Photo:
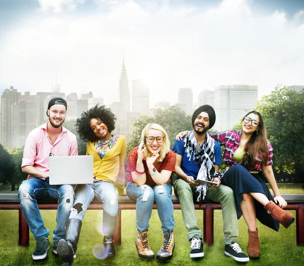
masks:
<instances>
[{"instance_id":1,"label":"dark navy skirt of the woman in the plaid shirt","mask_svg":"<svg viewBox=\"0 0 304 266\"><path fill-rule=\"evenodd\" d=\"M273 197L268 189L268 186L258 174L251 174L244 166L237 164L229 168L221 179L223 185L233 189L238 219L242 216L240 204L243 201L243 193L262 193L270 201ZM256 218L264 225L275 231L279 231L280 223L273 219L264 206L258 201L255 202Z\"/></svg>"}]
</instances>

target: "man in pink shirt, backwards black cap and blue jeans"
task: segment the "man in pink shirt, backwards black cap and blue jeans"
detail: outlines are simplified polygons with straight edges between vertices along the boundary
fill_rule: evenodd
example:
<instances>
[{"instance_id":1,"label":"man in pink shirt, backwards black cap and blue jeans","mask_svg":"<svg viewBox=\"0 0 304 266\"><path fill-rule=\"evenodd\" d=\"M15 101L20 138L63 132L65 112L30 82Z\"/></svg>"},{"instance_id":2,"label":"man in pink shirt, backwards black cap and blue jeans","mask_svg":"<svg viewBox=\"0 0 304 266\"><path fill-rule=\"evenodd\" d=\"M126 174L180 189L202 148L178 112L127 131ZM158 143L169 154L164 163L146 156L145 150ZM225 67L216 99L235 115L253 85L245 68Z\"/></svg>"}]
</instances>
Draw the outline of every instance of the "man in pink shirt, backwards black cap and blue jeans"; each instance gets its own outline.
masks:
<instances>
[{"instance_id":1,"label":"man in pink shirt, backwards black cap and blue jeans","mask_svg":"<svg viewBox=\"0 0 304 266\"><path fill-rule=\"evenodd\" d=\"M25 142L22 172L28 174L19 187L19 201L28 227L36 241L32 254L34 260L44 259L50 248L50 231L37 205L37 199L53 198L58 200L57 226L53 232L53 252L57 254L57 243L64 237L65 223L74 201L71 185L50 185L49 156L76 156L78 145L76 136L62 124L66 116L67 104L62 98L51 99L47 116L49 121L32 130Z\"/></svg>"}]
</instances>

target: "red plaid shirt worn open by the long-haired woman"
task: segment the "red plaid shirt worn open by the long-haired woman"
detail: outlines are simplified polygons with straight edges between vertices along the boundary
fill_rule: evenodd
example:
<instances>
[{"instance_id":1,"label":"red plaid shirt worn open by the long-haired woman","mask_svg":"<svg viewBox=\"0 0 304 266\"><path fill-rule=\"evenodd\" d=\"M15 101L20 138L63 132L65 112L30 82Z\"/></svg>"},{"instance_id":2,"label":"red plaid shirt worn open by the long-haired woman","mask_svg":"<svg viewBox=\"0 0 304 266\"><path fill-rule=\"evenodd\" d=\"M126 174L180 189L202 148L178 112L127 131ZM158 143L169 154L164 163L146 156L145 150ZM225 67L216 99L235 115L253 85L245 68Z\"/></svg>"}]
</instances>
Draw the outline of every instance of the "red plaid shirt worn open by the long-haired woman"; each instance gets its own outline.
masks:
<instances>
[{"instance_id":1,"label":"red plaid shirt worn open by the long-haired woman","mask_svg":"<svg viewBox=\"0 0 304 266\"><path fill-rule=\"evenodd\" d=\"M239 132L235 130L228 130L225 132L217 132L215 134L209 134L210 137L214 138L221 146L225 146L225 151L223 155L223 161L225 162L226 167L232 167L233 165L238 164L233 159L233 155L237 148L240 146L240 141L241 141L241 130ZM272 158L273 158L273 148L272 145L270 144L269 141L267 141L268 145L268 159L267 162L264 164L264 166L269 166L272 165ZM261 167L261 162L262 162L262 157L260 155L257 155L256 157L256 164L254 168L248 168L249 171L258 171L260 172L262 170Z\"/></svg>"}]
</instances>

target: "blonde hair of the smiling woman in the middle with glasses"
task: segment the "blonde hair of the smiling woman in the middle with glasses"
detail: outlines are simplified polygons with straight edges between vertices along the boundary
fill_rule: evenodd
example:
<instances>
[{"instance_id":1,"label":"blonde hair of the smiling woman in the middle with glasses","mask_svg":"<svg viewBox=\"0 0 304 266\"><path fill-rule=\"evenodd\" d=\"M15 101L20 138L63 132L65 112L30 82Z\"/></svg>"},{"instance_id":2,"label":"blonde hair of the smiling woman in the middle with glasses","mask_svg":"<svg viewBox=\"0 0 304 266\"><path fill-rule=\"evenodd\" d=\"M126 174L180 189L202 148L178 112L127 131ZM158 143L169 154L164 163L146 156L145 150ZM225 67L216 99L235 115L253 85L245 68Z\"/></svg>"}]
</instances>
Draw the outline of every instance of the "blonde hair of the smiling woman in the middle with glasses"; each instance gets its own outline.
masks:
<instances>
[{"instance_id":1,"label":"blonde hair of the smiling woman in the middle with glasses","mask_svg":"<svg viewBox=\"0 0 304 266\"><path fill-rule=\"evenodd\" d=\"M159 124L147 124L141 132L140 142L143 142L143 143L145 142L144 139L145 139L145 137L147 137L149 130L158 130L163 134L163 146L160 150L160 156L158 158L158 161L162 162L165 159L166 154L170 150L170 141L169 141L168 134L167 134L166 130ZM144 160L147 158L148 154L149 154L148 149L145 149L144 154L143 154Z\"/></svg>"}]
</instances>

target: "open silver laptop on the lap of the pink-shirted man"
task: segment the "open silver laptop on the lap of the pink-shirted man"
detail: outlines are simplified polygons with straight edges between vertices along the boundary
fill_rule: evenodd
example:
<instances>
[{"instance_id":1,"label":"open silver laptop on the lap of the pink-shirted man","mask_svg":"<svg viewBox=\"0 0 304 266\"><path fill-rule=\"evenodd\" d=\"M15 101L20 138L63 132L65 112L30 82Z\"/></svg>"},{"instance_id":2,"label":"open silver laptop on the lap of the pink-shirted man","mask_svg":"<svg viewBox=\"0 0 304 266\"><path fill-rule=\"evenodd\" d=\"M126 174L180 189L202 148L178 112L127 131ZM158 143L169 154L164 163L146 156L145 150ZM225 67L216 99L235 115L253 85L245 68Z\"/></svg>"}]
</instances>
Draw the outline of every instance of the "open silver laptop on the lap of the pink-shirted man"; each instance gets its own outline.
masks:
<instances>
[{"instance_id":1,"label":"open silver laptop on the lap of the pink-shirted man","mask_svg":"<svg viewBox=\"0 0 304 266\"><path fill-rule=\"evenodd\" d=\"M93 156L49 157L51 185L93 183Z\"/></svg>"}]
</instances>

